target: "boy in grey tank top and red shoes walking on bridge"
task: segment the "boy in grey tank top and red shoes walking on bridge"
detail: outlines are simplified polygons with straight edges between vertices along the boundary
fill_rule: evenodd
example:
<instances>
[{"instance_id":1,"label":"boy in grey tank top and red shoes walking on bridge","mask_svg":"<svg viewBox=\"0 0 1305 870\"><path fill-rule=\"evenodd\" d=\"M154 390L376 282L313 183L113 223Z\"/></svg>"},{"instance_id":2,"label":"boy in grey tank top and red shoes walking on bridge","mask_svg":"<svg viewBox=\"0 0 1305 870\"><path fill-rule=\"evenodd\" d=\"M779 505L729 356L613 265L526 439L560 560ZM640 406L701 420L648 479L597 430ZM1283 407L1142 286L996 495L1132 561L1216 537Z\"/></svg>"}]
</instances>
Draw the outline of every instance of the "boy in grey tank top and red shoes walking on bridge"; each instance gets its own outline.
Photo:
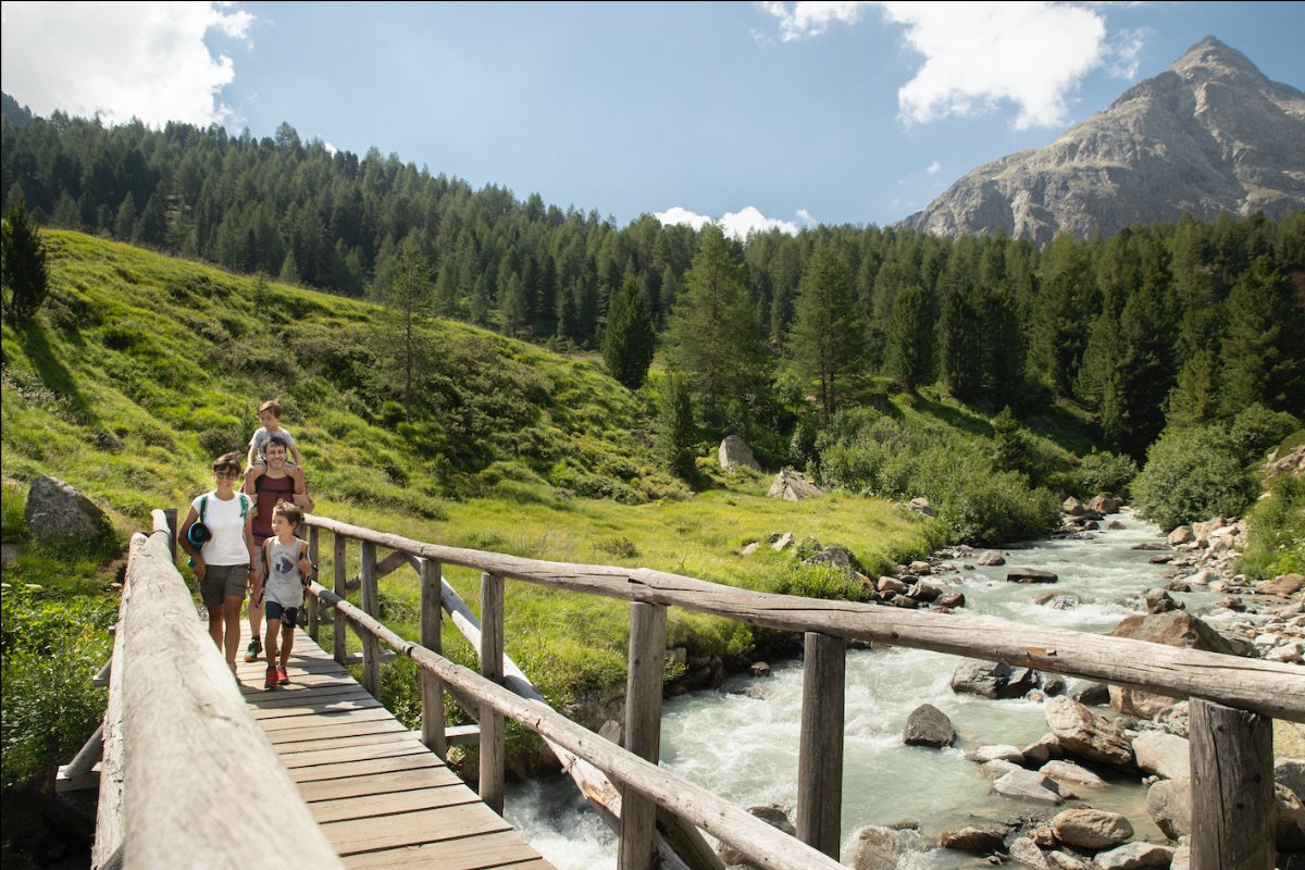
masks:
<instances>
[{"instance_id":1,"label":"boy in grey tank top and red shoes walking on bridge","mask_svg":"<svg viewBox=\"0 0 1305 870\"><path fill-rule=\"evenodd\" d=\"M304 587L313 571L308 543L295 537L304 514L295 505L281 502L271 510L273 536L262 543L264 612L268 618L268 680L264 689L290 682L286 665L295 643L295 623L304 603ZM258 590L254 590L254 597ZM277 635L281 635L278 648Z\"/></svg>"}]
</instances>

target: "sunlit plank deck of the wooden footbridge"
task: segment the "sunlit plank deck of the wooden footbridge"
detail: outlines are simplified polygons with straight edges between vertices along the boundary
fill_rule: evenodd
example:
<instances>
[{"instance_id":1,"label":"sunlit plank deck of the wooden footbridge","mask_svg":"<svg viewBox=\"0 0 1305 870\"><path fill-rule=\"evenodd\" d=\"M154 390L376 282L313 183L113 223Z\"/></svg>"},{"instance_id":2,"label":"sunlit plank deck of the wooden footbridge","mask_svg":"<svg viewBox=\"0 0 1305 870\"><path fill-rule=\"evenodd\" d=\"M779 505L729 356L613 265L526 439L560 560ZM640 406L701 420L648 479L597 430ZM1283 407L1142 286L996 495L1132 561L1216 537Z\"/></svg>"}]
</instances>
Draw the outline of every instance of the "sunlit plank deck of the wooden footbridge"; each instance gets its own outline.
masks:
<instances>
[{"instance_id":1,"label":"sunlit plank deck of the wooden footbridge","mask_svg":"<svg viewBox=\"0 0 1305 870\"><path fill-rule=\"evenodd\" d=\"M288 686L264 689L268 663L238 676L313 818L348 867L552 870L552 865L303 630Z\"/></svg>"}]
</instances>

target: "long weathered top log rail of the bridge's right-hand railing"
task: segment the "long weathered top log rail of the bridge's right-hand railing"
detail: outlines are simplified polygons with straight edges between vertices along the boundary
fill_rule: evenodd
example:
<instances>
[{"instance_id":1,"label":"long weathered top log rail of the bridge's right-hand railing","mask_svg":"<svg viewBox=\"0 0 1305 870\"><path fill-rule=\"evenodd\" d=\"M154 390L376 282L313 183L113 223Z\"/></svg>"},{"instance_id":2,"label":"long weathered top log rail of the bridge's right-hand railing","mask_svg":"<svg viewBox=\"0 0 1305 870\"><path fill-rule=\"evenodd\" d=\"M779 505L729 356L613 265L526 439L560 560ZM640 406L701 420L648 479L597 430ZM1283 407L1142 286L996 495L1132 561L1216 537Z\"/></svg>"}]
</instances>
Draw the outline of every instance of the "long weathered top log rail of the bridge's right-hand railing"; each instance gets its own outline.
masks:
<instances>
[{"instance_id":1,"label":"long weathered top log rail of the bridge's right-hand railing","mask_svg":"<svg viewBox=\"0 0 1305 870\"><path fill-rule=\"evenodd\" d=\"M993 617L749 592L649 569L545 562L438 547L324 517L309 517L307 522L334 532L337 537L356 537L410 556L475 567L551 588L676 605L784 631L820 631L1005 661L1176 698L1206 698L1275 719L1305 723L1305 669L1297 665L1047 629Z\"/></svg>"}]
</instances>

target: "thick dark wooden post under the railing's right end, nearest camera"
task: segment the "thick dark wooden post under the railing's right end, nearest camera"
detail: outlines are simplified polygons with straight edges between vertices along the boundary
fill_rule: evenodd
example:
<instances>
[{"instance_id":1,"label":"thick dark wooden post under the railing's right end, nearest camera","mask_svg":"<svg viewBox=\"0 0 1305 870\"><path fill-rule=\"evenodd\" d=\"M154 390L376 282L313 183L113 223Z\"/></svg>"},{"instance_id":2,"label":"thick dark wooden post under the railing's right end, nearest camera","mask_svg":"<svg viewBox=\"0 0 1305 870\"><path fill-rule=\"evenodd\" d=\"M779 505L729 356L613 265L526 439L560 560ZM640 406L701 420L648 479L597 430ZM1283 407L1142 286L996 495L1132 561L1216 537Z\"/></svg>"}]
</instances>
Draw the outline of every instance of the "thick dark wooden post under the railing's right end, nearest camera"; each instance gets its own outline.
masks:
<instances>
[{"instance_id":1,"label":"thick dark wooden post under the railing's right end, nearest camera","mask_svg":"<svg viewBox=\"0 0 1305 870\"><path fill-rule=\"evenodd\" d=\"M1272 870L1274 720L1191 698L1188 734L1191 870Z\"/></svg>"}]
</instances>

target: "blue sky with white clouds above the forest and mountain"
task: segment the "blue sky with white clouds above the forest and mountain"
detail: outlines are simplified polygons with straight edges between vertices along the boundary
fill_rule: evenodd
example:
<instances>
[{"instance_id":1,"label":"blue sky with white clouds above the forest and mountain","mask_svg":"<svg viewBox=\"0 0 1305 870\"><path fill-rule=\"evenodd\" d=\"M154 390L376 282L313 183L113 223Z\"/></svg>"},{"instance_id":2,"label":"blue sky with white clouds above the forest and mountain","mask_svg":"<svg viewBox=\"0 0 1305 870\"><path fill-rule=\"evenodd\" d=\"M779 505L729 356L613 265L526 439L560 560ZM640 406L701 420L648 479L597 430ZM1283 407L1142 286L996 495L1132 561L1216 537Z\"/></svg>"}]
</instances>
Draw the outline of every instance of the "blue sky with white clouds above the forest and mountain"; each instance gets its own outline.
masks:
<instances>
[{"instance_id":1,"label":"blue sky with white clouds above the forest and mountain","mask_svg":"<svg viewBox=\"0 0 1305 870\"><path fill-rule=\"evenodd\" d=\"M1214 35L1305 89L1305 3L3 3L56 108L372 146L474 188L744 232L889 226Z\"/></svg>"}]
</instances>

